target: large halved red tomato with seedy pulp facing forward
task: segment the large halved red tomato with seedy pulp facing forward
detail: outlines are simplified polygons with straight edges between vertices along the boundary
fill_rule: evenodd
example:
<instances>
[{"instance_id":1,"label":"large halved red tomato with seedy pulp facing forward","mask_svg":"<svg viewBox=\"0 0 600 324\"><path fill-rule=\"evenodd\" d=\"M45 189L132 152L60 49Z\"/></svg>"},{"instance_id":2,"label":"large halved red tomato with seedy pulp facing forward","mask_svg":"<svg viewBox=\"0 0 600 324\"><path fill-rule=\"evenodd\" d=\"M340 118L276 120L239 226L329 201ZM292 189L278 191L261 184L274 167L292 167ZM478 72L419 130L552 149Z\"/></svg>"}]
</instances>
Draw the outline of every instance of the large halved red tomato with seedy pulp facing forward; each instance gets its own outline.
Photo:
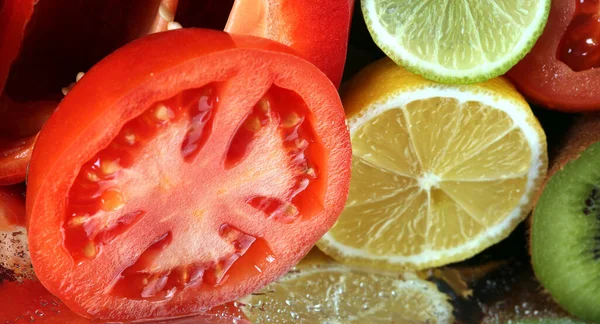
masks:
<instances>
[{"instance_id":1,"label":"large halved red tomato with seedy pulp facing forward","mask_svg":"<svg viewBox=\"0 0 600 324\"><path fill-rule=\"evenodd\" d=\"M36 274L89 318L204 312L310 250L344 207L350 163L337 90L287 46L150 35L93 67L38 137Z\"/></svg>"}]
</instances>

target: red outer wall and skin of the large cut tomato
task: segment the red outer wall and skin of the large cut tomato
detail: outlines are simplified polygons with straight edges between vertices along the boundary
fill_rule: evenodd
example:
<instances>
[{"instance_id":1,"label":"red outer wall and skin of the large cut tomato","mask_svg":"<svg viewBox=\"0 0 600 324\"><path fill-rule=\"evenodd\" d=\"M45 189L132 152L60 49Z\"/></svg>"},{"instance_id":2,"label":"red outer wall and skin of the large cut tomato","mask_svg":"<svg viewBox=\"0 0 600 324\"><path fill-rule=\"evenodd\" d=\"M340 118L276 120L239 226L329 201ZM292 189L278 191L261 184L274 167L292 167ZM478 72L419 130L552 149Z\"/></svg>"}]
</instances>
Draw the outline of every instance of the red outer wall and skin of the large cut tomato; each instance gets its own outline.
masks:
<instances>
[{"instance_id":1,"label":"red outer wall and skin of the large cut tomato","mask_svg":"<svg viewBox=\"0 0 600 324\"><path fill-rule=\"evenodd\" d=\"M328 149L326 165L331 166L324 211L294 224L293 229L264 233L265 237L270 236L276 261L251 280L230 280L212 291L201 292L203 295L194 289L184 290L162 303L100 293L106 289L102 282L114 280L109 278L110 272L115 267L125 267L134 256L121 249L110 258L75 266L63 248L59 230L64 222L61 208L80 166L106 147L127 121L154 102L170 98L182 89L227 79L231 79L232 88L226 90L231 98L235 98L236 91L245 92L244 100L230 99L233 112L233 107L246 107L248 100L258 100L263 91L259 86L268 84L292 89L308 107L318 109L313 111L317 116L315 129ZM242 84L246 88L239 88ZM86 109L81 109L82 106ZM61 102L39 135L29 170L26 208L34 268L49 291L73 311L89 318L139 320L203 312L274 280L310 250L344 207L350 162L349 134L335 87L321 71L292 54L287 46L208 30L184 29L150 35L94 66ZM129 237L128 244L145 244L139 243L145 239ZM89 280L90 276L95 280Z\"/></svg>"}]
</instances>

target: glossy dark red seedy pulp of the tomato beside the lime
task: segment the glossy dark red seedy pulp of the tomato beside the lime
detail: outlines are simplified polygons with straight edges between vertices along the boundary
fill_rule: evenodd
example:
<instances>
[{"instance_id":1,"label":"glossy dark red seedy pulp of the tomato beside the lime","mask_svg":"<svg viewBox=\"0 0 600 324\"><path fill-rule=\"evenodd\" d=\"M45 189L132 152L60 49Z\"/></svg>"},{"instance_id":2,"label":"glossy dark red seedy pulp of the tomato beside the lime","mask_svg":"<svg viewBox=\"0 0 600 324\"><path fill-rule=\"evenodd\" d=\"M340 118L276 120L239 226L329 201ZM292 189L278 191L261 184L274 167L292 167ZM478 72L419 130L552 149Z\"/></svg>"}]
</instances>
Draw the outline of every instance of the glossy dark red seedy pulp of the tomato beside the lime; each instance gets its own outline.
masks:
<instances>
[{"instance_id":1,"label":"glossy dark red seedy pulp of the tomato beside the lime","mask_svg":"<svg viewBox=\"0 0 600 324\"><path fill-rule=\"evenodd\" d=\"M600 0L577 0L558 48L560 60L573 71L600 67Z\"/></svg>"}]
</instances>

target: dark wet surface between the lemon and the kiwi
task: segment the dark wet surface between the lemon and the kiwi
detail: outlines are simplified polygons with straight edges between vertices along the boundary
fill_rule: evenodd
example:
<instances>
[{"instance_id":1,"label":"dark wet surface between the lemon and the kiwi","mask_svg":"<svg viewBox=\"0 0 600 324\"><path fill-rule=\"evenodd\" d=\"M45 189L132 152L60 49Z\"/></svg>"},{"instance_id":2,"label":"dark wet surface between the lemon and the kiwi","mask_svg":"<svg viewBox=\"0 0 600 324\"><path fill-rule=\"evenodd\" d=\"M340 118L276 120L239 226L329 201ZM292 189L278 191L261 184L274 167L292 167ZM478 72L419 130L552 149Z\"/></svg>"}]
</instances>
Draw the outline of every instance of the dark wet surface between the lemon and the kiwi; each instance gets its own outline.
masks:
<instances>
[{"instance_id":1,"label":"dark wet surface between the lemon and the kiwi","mask_svg":"<svg viewBox=\"0 0 600 324\"><path fill-rule=\"evenodd\" d=\"M506 323L526 318L569 318L535 279L527 252L527 228L480 255L445 269L458 271L471 296L460 296L446 281L434 279L452 296L458 323Z\"/></svg>"}]
</instances>

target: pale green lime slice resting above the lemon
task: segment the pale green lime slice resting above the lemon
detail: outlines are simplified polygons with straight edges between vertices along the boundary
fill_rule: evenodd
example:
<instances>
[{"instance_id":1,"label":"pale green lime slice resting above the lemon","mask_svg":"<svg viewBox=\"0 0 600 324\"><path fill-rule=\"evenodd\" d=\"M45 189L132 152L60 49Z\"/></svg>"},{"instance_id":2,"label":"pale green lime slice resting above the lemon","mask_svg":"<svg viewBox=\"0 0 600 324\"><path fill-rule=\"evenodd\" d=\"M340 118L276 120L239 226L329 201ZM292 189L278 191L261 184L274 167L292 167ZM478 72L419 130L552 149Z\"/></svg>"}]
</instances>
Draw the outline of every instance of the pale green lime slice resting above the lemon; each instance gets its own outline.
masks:
<instances>
[{"instance_id":1,"label":"pale green lime slice resting above the lemon","mask_svg":"<svg viewBox=\"0 0 600 324\"><path fill-rule=\"evenodd\" d=\"M504 74L541 35L550 0L362 0L377 45L398 64L445 83Z\"/></svg>"}]
</instances>

